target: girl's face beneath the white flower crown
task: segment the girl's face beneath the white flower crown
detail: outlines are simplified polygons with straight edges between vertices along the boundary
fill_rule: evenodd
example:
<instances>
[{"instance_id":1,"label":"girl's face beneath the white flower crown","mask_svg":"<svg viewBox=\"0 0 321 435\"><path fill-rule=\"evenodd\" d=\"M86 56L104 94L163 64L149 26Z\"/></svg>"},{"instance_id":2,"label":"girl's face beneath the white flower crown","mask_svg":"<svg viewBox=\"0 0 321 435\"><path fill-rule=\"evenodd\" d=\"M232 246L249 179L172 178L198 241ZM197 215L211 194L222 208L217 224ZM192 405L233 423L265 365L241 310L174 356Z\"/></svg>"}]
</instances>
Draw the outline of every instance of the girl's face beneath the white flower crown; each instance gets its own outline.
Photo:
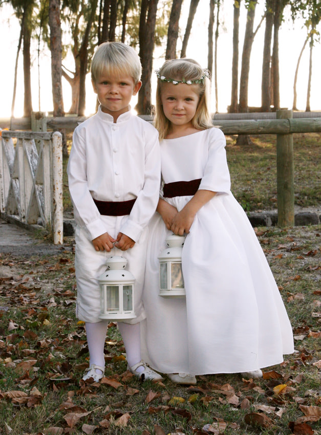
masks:
<instances>
[{"instance_id":1,"label":"girl's face beneath the white flower crown","mask_svg":"<svg viewBox=\"0 0 321 435\"><path fill-rule=\"evenodd\" d=\"M197 84L162 83L161 101L164 115L173 125L191 125L199 100Z\"/></svg>"}]
</instances>

